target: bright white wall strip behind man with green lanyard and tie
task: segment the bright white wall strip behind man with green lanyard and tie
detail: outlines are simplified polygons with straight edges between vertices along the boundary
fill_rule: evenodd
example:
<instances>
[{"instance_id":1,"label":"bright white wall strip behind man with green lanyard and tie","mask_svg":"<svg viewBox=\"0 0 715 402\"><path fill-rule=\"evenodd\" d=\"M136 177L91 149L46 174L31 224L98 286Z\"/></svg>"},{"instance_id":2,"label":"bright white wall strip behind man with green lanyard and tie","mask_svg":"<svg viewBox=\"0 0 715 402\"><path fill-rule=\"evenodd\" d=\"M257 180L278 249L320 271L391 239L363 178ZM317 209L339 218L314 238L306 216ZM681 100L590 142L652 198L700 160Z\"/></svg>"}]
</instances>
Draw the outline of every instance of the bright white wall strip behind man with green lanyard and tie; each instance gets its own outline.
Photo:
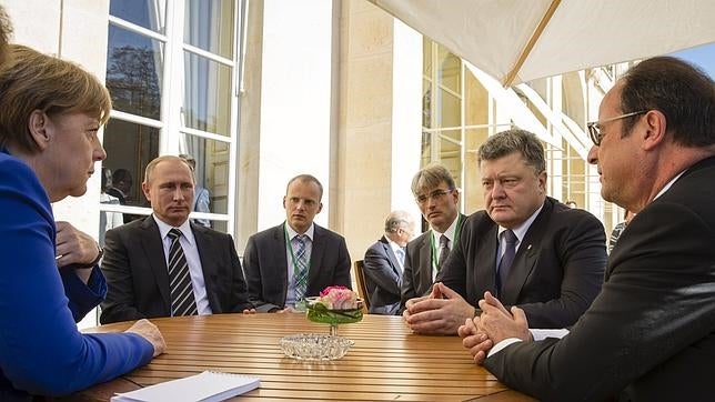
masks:
<instances>
[{"instance_id":1,"label":"bright white wall strip behind man with green lanyard and tie","mask_svg":"<svg viewBox=\"0 0 715 402\"><path fill-rule=\"evenodd\" d=\"M332 12L329 0L264 3L259 231L285 219L285 185L301 173L323 184L315 221L328 227Z\"/></svg>"}]
</instances>

